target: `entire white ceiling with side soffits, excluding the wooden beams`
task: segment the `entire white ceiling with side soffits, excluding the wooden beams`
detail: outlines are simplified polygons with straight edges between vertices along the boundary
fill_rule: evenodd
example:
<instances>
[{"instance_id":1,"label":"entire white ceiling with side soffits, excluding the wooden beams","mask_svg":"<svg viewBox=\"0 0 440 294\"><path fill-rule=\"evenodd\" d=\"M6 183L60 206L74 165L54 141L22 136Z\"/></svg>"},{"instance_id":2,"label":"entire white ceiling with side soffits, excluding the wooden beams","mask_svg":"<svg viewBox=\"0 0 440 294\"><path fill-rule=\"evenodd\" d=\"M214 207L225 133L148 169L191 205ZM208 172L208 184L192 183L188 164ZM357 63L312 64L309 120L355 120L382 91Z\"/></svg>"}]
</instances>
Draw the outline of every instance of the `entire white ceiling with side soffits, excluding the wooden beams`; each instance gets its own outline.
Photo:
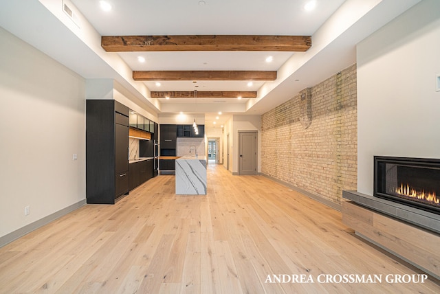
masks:
<instances>
[{"instance_id":1,"label":"entire white ceiling with side soffits, excluding the wooden beams","mask_svg":"<svg viewBox=\"0 0 440 294\"><path fill-rule=\"evenodd\" d=\"M206 113L206 123L223 111L262 114L298 91L355 63L355 45L419 0L0 0L0 25L85 78L113 78L157 113ZM63 14L74 10L77 27ZM86 30L87 29L87 30ZM256 34L309 35L307 52L122 52L100 48L100 36ZM145 63L139 63L143 56ZM265 58L273 56L272 63ZM132 70L276 70L272 82L135 82ZM198 87L196 87L198 86ZM153 99L149 91L258 91L256 99ZM197 104L195 104L197 102ZM196 106L197 105L197 109ZM223 118L222 118L223 117Z\"/></svg>"}]
</instances>

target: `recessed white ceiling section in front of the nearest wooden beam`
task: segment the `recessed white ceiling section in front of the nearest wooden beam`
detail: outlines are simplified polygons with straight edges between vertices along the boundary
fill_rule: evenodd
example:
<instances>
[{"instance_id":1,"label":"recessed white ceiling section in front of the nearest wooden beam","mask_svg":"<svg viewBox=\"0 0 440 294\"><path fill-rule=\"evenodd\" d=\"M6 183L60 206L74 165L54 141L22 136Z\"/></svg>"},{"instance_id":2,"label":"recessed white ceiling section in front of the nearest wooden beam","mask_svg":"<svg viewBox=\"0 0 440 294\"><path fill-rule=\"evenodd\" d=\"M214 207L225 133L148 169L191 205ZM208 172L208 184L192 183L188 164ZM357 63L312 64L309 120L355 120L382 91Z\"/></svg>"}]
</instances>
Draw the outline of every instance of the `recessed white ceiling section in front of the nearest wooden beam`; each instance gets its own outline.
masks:
<instances>
[{"instance_id":1,"label":"recessed white ceiling section in front of the nearest wooden beam","mask_svg":"<svg viewBox=\"0 0 440 294\"><path fill-rule=\"evenodd\" d=\"M344 0L318 0L314 12L306 0L71 0L104 36L257 34L311 35Z\"/></svg>"}]
</instances>

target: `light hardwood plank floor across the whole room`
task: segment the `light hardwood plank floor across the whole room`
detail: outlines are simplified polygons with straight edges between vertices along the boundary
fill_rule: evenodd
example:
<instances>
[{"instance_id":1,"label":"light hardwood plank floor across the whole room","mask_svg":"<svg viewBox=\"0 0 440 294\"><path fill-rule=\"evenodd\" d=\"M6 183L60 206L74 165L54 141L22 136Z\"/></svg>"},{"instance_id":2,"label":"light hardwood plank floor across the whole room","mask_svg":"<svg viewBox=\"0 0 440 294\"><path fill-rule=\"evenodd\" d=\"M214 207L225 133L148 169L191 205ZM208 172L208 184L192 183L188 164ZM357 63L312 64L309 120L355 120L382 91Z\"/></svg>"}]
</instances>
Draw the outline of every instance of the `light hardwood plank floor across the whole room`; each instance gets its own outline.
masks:
<instances>
[{"instance_id":1,"label":"light hardwood plank floor across the whole room","mask_svg":"<svg viewBox=\"0 0 440 294\"><path fill-rule=\"evenodd\" d=\"M0 293L440 293L430 279L386 282L419 272L354 236L340 212L265 177L210 165L208 195L174 185L156 177L0 248ZM344 274L383 280L318 281Z\"/></svg>"}]
</instances>

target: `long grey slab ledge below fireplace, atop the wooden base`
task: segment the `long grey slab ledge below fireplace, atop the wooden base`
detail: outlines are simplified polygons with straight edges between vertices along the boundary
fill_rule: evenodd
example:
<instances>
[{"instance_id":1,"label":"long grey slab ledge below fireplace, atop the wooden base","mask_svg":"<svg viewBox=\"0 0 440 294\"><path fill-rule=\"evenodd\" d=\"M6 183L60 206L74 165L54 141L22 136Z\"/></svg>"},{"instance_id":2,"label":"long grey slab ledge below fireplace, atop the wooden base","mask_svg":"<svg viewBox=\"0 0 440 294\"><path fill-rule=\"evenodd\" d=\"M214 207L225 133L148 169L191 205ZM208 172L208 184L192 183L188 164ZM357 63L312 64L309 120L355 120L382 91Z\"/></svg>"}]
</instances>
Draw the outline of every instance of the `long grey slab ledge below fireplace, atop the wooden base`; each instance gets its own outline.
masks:
<instances>
[{"instance_id":1,"label":"long grey slab ledge below fireplace, atop the wooden base","mask_svg":"<svg viewBox=\"0 0 440 294\"><path fill-rule=\"evenodd\" d=\"M381 212L388 216L393 216L399 220L404 220L413 225L423 227L430 231L440 234L440 215L426 212L415 207L388 201L386 199L362 194L357 191L342 191L342 198L351 200L354 203Z\"/></svg>"}]
</instances>

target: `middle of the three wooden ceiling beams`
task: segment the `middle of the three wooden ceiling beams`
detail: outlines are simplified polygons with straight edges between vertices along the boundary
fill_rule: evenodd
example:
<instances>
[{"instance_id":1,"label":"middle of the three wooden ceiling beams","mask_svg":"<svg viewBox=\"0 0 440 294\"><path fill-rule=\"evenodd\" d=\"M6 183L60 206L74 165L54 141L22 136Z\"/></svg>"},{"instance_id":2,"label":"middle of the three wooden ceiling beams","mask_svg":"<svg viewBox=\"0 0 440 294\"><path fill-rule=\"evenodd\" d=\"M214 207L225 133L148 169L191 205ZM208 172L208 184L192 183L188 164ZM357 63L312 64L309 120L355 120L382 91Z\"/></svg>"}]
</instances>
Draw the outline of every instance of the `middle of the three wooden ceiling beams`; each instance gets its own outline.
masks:
<instances>
[{"instance_id":1,"label":"middle of the three wooden ceiling beams","mask_svg":"<svg viewBox=\"0 0 440 294\"><path fill-rule=\"evenodd\" d=\"M276 71L133 71L134 80L276 80Z\"/></svg>"}]
</instances>

